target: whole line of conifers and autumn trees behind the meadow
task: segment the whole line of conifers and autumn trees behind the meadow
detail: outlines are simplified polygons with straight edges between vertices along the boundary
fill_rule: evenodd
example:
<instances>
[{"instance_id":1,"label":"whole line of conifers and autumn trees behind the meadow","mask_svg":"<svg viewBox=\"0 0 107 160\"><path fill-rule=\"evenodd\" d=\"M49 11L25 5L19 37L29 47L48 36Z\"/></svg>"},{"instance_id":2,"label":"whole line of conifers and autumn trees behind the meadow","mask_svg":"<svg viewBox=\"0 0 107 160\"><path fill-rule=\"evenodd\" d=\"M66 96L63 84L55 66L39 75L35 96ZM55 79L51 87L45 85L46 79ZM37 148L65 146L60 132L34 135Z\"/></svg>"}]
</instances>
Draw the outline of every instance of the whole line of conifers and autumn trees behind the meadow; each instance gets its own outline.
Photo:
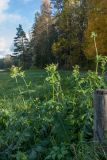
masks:
<instances>
[{"instance_id":1,"label":"whole line of conifers and autumn trees behind the meadow","mask_svg":"<svg viewBox=\"0 0 107 160\"><path fill-rule=\"evenodd\" d=\"M91 33L97 35L99 54L107 55L107 2L105 0L43 0L28 39L22 25L14 38L13 62L23 68L58 63L71 69L94 66Z\"/></svg>"}]
</instances>

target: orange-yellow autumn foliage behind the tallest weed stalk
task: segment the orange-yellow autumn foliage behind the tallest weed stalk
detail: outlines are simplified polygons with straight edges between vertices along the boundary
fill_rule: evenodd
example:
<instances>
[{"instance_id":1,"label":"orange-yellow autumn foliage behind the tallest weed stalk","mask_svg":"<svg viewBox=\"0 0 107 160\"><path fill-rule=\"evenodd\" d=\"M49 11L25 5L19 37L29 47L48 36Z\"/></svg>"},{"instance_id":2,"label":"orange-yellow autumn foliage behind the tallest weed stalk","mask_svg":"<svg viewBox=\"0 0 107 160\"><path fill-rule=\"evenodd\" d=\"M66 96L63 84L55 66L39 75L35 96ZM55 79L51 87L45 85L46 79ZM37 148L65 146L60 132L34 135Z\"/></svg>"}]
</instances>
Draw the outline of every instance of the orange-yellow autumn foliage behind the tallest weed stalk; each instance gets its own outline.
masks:
<instances>
[{"instance_id":1,"label":"orange-yellow autumn foliage behind the tallest weed stalk","mask_svg":"<svg viewBox=\"0 0 107 160\"><path fill-rule=\"evenodd\" d=\"M85 32L85 55L93 58L96 55L91 33L97 33L99 54L107 55L107 0L89 0L88 26Z\"/></svg>"}]
</instances>

